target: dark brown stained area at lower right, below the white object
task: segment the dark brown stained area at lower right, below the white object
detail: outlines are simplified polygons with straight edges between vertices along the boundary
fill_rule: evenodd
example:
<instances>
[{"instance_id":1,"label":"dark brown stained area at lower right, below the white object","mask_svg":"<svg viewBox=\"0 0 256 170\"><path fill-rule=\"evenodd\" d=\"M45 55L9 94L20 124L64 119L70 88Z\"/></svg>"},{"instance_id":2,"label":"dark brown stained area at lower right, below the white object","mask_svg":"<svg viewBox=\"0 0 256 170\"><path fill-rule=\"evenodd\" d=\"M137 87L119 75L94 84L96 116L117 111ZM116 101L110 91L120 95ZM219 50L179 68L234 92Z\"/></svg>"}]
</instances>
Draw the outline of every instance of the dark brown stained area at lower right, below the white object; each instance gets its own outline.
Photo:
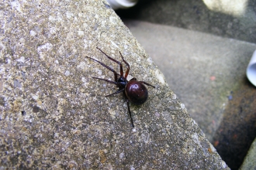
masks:
<instances>
[{"instance_id":1,"label":"dark brown stained area at lower right, below the white object","mask_svg":"<svg viewBox=\"0 0 256 170\"><path fill-rule=\"evenodd\" d=\"M242 79L230 94L213 146L232 170L238 169L256 136L256 88Z\"/></svg>"}]
</instances>

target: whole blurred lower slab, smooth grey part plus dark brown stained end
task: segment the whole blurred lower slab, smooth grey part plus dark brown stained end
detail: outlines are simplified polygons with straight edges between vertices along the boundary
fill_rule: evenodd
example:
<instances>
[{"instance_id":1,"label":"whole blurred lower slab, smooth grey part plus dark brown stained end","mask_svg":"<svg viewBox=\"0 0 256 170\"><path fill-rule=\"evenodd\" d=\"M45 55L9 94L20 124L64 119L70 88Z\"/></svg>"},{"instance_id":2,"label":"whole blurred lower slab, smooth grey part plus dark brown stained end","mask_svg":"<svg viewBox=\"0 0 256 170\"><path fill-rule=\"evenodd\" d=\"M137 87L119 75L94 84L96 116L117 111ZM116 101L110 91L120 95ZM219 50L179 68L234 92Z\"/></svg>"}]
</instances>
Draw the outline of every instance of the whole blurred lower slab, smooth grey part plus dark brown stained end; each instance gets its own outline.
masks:
<instances>
[{"instance_id":1,"label":"whole blurred lower slab, smooth grey part plus dark brown stained end","mask_svg":"<svg viewBox=\"0 0 256 170\"><path fill-rule=\"evenodd\" d=\"M256 45L124 20L223 160L239 168L256 134L256 88L245 70Z\"/></svg>"}]
</instances>

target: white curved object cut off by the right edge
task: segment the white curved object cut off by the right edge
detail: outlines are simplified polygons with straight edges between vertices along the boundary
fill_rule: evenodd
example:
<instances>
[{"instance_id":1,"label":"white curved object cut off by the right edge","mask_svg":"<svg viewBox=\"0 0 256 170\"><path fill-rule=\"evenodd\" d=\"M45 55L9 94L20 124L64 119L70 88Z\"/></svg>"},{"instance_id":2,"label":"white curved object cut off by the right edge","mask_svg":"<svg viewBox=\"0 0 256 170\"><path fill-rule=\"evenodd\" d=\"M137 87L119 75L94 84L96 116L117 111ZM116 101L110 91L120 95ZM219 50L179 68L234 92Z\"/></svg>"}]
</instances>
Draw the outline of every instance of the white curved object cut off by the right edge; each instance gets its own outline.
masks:
<instances>
[{"instance_id":1,"label":"white curved object cut off by the right edge","mask_svg":"<svg viewBox=\"0 0 256 170\"><path fill-rule=\"evenodd\" d=\"M251 61L247 66L246 75L251 83L256 87L256 50L254 51Z\"/></svg>"}]
</instances>

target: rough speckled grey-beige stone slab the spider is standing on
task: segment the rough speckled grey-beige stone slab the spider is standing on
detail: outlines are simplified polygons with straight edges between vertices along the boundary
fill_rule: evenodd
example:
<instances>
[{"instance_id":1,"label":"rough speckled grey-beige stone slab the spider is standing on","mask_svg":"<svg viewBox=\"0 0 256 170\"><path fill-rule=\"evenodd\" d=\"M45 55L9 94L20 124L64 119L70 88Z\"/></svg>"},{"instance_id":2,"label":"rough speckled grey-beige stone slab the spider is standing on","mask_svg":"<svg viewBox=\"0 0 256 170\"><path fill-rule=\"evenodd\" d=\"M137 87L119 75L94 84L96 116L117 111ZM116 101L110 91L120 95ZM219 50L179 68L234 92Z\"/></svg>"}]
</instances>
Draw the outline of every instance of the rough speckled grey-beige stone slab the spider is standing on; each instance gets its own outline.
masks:
<instances>
[{"instance_id":1,"label":"rough speckled grey-beige stone slab the spider is standing on","mask_svg":"<svg viewBox=\"0 0 256 170\"><path fill-rule=\"evenodd\" d=\"M0 168L228 169L105 1L0 2ZM114 69L154 84L135 128Z\"/></svg>"}]
</instances>

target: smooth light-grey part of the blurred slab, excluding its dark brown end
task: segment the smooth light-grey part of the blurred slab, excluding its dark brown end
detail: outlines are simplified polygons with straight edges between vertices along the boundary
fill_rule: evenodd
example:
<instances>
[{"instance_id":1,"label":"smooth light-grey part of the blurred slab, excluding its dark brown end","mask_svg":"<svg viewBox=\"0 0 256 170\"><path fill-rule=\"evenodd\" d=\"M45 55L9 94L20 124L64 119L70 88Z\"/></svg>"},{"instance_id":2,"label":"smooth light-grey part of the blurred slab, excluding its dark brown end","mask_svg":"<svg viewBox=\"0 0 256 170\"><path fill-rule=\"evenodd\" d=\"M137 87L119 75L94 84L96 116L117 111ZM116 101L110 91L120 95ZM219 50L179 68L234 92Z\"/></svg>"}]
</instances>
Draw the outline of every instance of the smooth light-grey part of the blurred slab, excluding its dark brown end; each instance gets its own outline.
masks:
<instances>
[{"instance_id":1,"label":"smooth light-grey part of the blurred slab, excluding its dark brown end","mask_svg":"<svg viewBox=\"0 0 256 170\"><path fill-rule=\"evenodd\" d=\"M232 91L244 81L256 45L148 22L125 23L209 141L213 141L224 109L232 100Z\"/></svg>"}]
</instances>

